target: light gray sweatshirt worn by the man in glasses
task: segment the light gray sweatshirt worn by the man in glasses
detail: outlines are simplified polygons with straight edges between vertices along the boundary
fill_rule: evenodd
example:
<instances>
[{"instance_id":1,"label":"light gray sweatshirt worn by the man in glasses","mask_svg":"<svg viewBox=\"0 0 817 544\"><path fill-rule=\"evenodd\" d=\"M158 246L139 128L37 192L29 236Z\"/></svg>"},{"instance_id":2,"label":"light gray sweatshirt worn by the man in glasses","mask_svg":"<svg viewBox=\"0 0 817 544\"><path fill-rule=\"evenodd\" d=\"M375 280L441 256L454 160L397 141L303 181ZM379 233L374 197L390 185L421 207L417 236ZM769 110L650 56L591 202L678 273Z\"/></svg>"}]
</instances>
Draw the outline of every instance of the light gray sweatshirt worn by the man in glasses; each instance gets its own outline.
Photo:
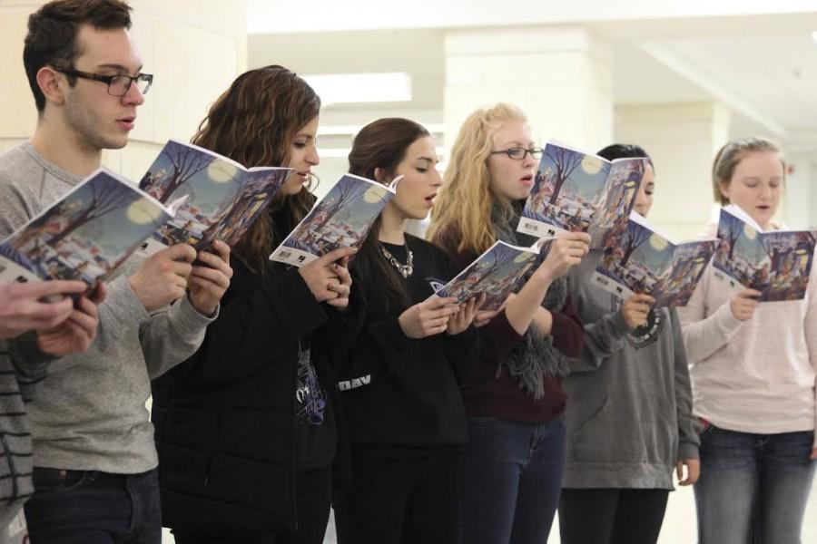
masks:
<instances>
[{"instance_id":1,"label":"light gray sweatshirt worn by the man in glasses","mask_svg":"<svg viewBox=\"0 0 817 544\"><path fill-rule=\"evenodd\" d=\"M0 156L0 239L80 180L27 142ZM109 282L88 352L55 360L38 384L28 405L34 466L126 474L157 466L150 380L192 355L212 318L186 297L149 314L125 277L140 262L131 257Z\"/></svg>"}]
</instances>

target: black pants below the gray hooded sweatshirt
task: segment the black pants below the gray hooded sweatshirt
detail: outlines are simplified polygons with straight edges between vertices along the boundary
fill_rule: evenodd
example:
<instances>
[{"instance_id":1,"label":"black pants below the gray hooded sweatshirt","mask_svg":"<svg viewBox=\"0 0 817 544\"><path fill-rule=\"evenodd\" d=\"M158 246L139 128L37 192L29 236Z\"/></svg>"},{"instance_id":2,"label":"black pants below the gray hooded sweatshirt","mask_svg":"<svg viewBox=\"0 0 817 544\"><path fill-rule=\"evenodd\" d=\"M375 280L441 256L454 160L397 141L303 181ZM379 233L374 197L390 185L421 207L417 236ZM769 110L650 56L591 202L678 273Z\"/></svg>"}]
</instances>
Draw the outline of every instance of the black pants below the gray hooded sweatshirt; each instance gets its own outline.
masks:
<instances>
[{"instance_id":1,"label":"black pants below the gray hooded sweatshirt","mask_svg":"<svg viewBox=\"0 0 817 544\"><path fill-rule=\"evenodd\" d=\"M655 544L667 490L564 489L561 544Z\"/></svg>"}]
</instances>

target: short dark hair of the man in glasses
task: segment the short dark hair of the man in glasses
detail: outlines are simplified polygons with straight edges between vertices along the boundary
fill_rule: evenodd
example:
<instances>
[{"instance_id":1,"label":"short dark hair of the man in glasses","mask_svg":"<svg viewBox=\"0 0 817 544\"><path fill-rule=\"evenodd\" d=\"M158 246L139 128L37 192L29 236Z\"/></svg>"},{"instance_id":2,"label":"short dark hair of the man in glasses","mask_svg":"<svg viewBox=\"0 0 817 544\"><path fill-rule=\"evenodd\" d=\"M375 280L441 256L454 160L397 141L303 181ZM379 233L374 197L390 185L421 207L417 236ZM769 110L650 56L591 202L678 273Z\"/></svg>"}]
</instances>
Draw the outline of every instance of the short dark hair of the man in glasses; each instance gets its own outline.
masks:
<instances>
[{"instance_id":1,"label":"short dark hair of the man in glasses","mask_svg":"<svg viewBox=\"0 0 817 544\"><path fill-rule=\"evenodd\" d=\"M38 112L45 109L45 95L37 84L37 72L46 65L73 68L82 53L76 46L81 24L96 29L131 28L131 6L120 0L54 0L28 17L23 64ZM76 78L69 76L72 86Z\"/></svg>"}]
</instances>

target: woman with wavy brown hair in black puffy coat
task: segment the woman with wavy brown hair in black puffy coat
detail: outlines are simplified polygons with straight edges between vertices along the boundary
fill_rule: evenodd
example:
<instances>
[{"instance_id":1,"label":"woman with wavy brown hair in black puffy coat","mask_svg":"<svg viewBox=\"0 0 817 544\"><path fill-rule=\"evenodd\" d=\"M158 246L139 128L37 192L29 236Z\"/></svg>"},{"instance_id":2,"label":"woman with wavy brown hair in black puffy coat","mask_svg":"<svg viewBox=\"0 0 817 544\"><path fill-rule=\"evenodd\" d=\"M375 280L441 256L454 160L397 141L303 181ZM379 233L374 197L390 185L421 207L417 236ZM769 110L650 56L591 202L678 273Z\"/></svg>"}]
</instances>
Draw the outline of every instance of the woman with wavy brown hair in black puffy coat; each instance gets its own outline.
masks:
<instances>
[{"instance_id":1,"label":"woman with wavy brown hair in black puffy coat","mask_svg":"<svg viewBox=\"0 0 817 544\"><path fill-rule=\"evenodd\" d=\"M352 250L300 269L268 259L314 201L319 109L300 77L267 66L239 76L192 140L294 171L236 246L202 347L153 382L162 523L178 544L323 540L344 443L330 357L354 321Z\"/></svg>"}]
</instances>

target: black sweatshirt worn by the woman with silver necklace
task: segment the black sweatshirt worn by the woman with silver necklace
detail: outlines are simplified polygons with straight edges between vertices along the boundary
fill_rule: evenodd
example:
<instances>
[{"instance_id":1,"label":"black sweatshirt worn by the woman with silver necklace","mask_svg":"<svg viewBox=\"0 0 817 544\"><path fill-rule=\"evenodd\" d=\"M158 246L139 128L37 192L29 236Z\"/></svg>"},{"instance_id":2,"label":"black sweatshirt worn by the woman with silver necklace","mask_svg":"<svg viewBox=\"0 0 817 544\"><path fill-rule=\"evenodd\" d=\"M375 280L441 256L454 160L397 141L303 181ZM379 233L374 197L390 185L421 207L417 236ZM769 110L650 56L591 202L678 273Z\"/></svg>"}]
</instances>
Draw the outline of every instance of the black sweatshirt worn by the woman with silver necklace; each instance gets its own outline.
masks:
<instances>
[{"instance_id":1,"label":"black sweatshirt worn by the woman with silver necklace","mask_svg":"<svg viewBox=\"0 0 817 544\"><path fill-rule=\"evenodd\" d=\"M442 287L456 274L442 249L406 238L414 273L402 283L413 305L434 294L433 284ZM377 279L360 279L365 274L357 261L352 272L352 299L366 316L338 377L353 454L401 456L464 445L459 384L477 358L476 331L408 338L399 325L406 308L389 303Z\"/></svg>"}]
</instances>

